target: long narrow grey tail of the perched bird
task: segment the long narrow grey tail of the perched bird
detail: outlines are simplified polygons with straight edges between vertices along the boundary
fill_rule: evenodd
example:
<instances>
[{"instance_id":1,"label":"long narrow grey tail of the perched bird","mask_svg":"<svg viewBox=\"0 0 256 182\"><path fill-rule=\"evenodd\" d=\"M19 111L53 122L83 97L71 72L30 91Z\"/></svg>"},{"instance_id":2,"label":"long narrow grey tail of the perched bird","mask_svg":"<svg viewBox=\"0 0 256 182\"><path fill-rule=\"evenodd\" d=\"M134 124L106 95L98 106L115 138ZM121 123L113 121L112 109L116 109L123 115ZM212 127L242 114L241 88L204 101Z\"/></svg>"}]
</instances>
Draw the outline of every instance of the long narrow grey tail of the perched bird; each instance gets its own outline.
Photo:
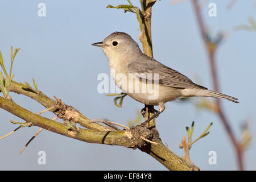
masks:
<instances>
[{"instance_id":1,"label":"long narrow grey tail of the perched bird","mask_svg":"<svg viewBox=\"0 0 256 182\"><path fill-rule=\"evenodd\" d=\"M182 91L182 95L184 97L193 97L193 96L199 96L199 97L217 97L217 98L225 98L226 100L239 103L238 99L235 97L231 97L222 93L214 92L212 90L208 89L184 89Z\"/></svg>"}]
</instances>

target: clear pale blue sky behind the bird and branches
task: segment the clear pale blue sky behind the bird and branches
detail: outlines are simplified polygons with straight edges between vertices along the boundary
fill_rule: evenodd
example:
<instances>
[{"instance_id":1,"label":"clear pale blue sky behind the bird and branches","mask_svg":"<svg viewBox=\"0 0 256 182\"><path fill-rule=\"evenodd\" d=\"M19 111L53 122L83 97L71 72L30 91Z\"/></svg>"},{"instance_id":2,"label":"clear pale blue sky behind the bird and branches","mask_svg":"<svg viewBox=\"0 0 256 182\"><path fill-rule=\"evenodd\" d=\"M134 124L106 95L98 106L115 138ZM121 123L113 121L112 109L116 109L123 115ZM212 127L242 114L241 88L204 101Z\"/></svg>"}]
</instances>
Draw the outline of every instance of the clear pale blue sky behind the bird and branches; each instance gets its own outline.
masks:
<instances>
[{"instance_id":1,"label":"clear pale blue sky behind the bird and branches","mask_svg":"<svg viewBox=\"0 0 256 182\"><path fill-rule=\"evenodd\" d=\"M46 17L38 16L38 4L46 3ZM139 1L131 0L134 5ZM239 98L240 104L223 100L230 125L241 136L242 122L251 120L253 141L245 152L245 168L256 169L255 111L256 111L256 32L234 31L240 24L256 20L254 1L237 1L226 9L230 1L209 1L217 5L217 17L208 16L208 4L203 18L212 35L223 31L227 35L216 55L221 92ZM14 80L32 78L39 90L49 97L61 98L90 119L108 118L127 124L135 119L143 104L126 97L123 107L113 104L114 97L97 92L100 73L109 73L108 59L100 48L91 46L101 42L114 31L123 31L139 43L135 14L106 9L107 5L127 4L127 1L1 1L0 50L6 67L10 65L10 47L20 47L14 60ZM157 1L152 10L152 44L154 58L190 77L197 84L212 89L208 57L200 36L192 3L175 6L170 0ZM139 43L141 47L141 43ZM196 79L200 77L200 80ZM35 113L44 107L30 98L11 93L14 101ZM196 102L199 98L192 101ZM157 107L156 107L157 108ZM43 114L53 118L51 113ZM23 122L0 109L0 137L14 130L10 119ZM163 142L179 156L185 126L195 121L194 139L213 122L210 134L196 142L191 160L201 170L235 170L236 155L220 119L208 110L197 110L192 102L168 102L166 110L156 119ZM90 144L43 130L21 155L20 149L39 130L26 127L0 140L0 169L14 170L166 170L162 164L139 150L119 146ZM38 164L38 152L46 151L46 165ZM209 151L217 152L217 164L208 163Z\"/></svg>"}]
</instances>

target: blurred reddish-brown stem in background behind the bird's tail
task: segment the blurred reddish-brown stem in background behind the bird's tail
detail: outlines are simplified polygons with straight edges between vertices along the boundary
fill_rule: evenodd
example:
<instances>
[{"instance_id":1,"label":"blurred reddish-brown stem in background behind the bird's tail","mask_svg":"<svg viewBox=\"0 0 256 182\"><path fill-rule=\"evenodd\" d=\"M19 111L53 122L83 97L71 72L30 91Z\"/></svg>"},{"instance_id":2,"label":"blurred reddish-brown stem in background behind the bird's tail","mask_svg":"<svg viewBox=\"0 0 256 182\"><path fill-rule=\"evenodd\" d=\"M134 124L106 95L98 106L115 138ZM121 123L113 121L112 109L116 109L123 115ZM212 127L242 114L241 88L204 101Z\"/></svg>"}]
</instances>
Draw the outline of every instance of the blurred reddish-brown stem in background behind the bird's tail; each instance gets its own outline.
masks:
<instances>
[{"instance_id":1,"label":"blurred reddish-brown stem in background behind the bird's tail","mask_svg":"<svg viewBox=\"0 0 256 182\"><path fill-rule=\"evenodd\" d=\"M196 14L196 18L197 18L197 22L199 24L199 28L200 28L200 32L201 32L201 36L204 39L204 43L205 43L205 47L207 47L208 50L208 56L209 56L209 61L210 61L210 69L212 72L212 80L213 80L213 88L216 92L220 92L219 90L219 84L218 84L218 78L217 78L217 69L216 69L216 61L215 61L215 53L216 53L216 49L212 49L209 46L209 42L207 41L207 33L205 32L205 25L203 22L203 18L201 16L200 13L200 9L199 9L199 5L198 5L198 1L197 0L193 0L192 1L194 10L195 10L195 14ZM242 150L240 147L240 143L237 141L236 137L234 137L233 131L229 125L228 119L226 119L226 115L224 114L224 111L222 109L222 105L221 105L221 101L219 98L216 98L216 104L218 106L218 110L217 110L217 114L219 115L219 117L221 118L222 123L224 124L224 127L229 135L229 138L232 141L232 144L236 150L237 153L237 160L238 160L238 167L240 168L240 170L243 170L243 159L242 159Z\"/></svg>"}]
</instances>

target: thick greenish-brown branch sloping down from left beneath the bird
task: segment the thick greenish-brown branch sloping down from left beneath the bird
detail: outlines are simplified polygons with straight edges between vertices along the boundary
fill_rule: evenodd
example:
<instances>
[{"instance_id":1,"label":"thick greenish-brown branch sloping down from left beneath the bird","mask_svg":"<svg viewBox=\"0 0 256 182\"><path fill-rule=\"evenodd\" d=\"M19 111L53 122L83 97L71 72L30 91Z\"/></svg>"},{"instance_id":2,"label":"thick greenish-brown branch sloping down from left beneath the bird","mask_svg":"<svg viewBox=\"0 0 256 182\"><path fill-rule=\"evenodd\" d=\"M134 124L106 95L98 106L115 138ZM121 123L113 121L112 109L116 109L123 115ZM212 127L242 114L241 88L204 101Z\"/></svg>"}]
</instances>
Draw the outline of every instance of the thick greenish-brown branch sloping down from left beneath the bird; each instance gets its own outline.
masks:
<instances>
[{"instance_id":1,"label":"thick greenish-brown branch sloping down from left beneath the bird","mask_svg":"<svg viewBox=\"0 0 256 182\"><path fill-rule=\"evenodd\" d=\"M152 133L151 130L142 125L133 127L129 130L122 131L94 131L88 129L73 130L69 126L44 118L38 114L32 113L17 105L14 101L0 97L0 107L24 119L27 123L42 127L43 129L58 133L67 137L82 140L88 143L102 143L110 145L125 146L129 148L139 148L147 154L153 156L160 163L171 170L198 170L196 166L187 164L179 156L168 150L161 142L157 134ZM141 139L150 138L158 144L147 143Z\"/></svg>"}]
</instances>

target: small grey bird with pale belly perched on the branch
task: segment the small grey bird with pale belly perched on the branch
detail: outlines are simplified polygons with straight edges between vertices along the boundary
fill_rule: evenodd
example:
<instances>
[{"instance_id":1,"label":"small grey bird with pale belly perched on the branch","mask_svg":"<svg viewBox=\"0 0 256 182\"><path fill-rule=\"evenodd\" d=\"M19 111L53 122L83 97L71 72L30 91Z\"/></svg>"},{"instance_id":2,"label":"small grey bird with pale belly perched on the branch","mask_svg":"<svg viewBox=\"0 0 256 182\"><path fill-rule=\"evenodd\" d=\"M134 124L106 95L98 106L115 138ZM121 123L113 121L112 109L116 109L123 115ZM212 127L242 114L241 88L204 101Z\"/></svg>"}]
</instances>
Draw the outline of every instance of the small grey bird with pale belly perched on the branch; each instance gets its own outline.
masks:
<instances>
[{"instance_id":1,"label":"small grey bird with pale belly perched on the branch","mask_svg":"<svg viewBox=\"0 0 256 182\"><path fill-rule=\"evenodd\" d=\"M125 32L114 32L101 47L109 60L110 73L118 87L130 97L145 104L158 105L157 117L165 109L164 103L184 97L218 97L239 103L237 98L208 90L188 77L144 55L138 44Z\"/></svg>"}]
</instances>

